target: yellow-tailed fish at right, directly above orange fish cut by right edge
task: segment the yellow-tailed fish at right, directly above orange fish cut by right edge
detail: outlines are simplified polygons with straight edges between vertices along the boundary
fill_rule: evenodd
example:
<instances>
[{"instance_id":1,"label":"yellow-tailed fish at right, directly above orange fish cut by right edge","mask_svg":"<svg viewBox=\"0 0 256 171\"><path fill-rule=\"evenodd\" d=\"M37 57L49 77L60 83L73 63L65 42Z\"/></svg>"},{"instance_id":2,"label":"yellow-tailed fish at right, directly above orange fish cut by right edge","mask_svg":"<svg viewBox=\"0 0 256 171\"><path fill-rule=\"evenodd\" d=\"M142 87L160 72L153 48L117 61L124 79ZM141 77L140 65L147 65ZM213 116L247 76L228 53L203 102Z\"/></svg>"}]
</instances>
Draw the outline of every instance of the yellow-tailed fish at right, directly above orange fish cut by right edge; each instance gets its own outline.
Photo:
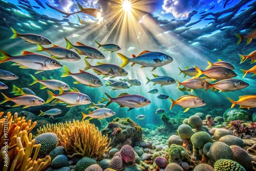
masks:
<instances>
[{"instance_id":1,"label":"yellow-tailed fish at right, directly above orange fish cut by right edge","mask_svg":"<svg viewBox=\"0 0 256 171\"><path fill-rule=\"evenodd\" d=\"M249 86L247 82L244 82L240 79L223 79L212 84L207 82L207 84L208 87L205 89L205 91L212 88L219 90L219 92L236 91L244 89Z\"/></svg>"}]
</instances>

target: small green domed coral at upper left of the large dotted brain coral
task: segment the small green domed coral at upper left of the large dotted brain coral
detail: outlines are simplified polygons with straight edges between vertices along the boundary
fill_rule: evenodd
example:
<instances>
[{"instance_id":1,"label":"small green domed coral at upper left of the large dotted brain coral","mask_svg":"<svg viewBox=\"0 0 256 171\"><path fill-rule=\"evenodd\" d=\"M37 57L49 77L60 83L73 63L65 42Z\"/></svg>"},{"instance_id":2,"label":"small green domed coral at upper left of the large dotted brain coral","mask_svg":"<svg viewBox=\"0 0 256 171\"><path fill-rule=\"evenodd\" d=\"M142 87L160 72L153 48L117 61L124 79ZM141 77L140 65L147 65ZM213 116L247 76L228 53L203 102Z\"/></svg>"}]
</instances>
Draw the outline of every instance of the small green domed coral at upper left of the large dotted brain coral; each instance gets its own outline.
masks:
<instances>
[{"instance_id":1,"label":"small green domed coral at upper left of the large dotted brain coral","mask_svg":"<svg viewBox=\"0 0 256 171\"><path fill-rule=\"evenodd\" d=\"M190 138L194 149L204 147L207 142L212 142L211 136L206 132L197 132Z\"/></svg>"}]
</instances>

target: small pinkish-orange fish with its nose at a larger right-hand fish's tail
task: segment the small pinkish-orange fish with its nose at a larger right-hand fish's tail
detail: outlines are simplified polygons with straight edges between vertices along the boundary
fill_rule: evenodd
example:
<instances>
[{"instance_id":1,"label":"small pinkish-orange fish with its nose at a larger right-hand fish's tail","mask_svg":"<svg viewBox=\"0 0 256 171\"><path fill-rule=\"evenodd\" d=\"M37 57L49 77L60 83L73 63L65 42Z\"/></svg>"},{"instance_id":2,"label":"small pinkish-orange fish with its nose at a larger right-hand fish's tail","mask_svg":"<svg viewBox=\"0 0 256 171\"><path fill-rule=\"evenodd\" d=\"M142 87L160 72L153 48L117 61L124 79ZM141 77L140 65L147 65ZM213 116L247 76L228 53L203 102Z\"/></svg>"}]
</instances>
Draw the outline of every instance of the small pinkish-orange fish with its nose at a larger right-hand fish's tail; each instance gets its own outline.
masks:
<instances>
[{"instance_id":1,"label":"small pinkish-orange fish with its nose at a larger right-hand fish's tail","mask_svg":"<svg viewBox=\"0 0 256 171\"><path fill-rule=\"evenodd\" d=\"M183 82L179 82L178 80L177 82L178 86L176 89L178 89L180 86L184 86L191 89L191 92L193 92L194 89L204 89L208 87L207 82L201 78L189 78Z\"/></svg>"}]
</instances>

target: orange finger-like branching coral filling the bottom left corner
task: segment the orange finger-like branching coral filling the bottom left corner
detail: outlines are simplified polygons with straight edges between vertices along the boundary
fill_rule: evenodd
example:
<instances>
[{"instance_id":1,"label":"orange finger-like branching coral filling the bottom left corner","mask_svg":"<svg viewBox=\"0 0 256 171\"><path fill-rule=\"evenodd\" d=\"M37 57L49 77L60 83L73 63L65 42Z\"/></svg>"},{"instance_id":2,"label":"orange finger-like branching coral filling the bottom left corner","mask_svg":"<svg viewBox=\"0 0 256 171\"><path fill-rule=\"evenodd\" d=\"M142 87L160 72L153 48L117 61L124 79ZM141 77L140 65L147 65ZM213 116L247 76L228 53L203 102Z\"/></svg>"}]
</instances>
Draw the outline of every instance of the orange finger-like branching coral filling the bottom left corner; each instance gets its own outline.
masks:
<instances>
[{"instance_id":1,"label":"orange finger-like branching coral filling the bottom left corner","mask_svg":"<svg viewBox=\"0 0 256 171\"><path fill-rule=\"evenodd\" d=\"M1 112L0 117L3 114ZM0 156L0 170L40 171L45 170L50 165L50 156L37 159L41 144L35 145L35 140L32 140L32 134L28 135L35 124L36 122L31 125L31 120L26 122L25 117L18 118L17 113L13 117L8 112L4 118L0 119L0 147L2 154ZM33 148L35 148L35 152L32 155Z\"/></svg>"}]
</instances>

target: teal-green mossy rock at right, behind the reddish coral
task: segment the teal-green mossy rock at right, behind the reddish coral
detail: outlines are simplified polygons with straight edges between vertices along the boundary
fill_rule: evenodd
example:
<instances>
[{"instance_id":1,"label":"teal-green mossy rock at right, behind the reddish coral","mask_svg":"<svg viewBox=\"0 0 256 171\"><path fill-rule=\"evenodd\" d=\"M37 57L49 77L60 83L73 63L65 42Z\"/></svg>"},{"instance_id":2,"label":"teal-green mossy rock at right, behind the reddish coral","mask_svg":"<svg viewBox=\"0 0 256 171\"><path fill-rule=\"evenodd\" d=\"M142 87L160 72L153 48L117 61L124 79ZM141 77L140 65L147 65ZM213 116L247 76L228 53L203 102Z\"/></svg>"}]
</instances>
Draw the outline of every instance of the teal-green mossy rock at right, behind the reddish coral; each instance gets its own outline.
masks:
<instances>
[{"instance_id":1,"label":"teal-green mossy rock at right, behind the reddish coral","mask_svg":"<svg viewBox=\"0 0 256 171\"><path fill-rule=\"evenodd\" d=\"M244 122L251 120L251 114L241 109L228 109L223 114L225 122L230 122L233 120L242 120Z\"/></svg>"}]
</instances>

